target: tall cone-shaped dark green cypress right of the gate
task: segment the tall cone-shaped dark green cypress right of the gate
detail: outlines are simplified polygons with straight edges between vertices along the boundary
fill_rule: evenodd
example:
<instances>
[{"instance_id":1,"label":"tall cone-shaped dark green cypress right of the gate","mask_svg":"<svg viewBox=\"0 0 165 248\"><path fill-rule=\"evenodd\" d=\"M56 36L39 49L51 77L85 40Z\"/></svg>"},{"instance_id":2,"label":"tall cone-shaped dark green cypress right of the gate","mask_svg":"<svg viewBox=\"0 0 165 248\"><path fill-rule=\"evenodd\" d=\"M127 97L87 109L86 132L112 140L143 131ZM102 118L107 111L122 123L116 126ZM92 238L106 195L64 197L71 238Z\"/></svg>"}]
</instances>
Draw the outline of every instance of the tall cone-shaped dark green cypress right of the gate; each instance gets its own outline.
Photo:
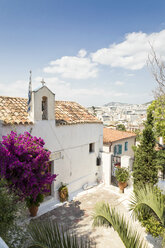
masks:
<instances>
[{"instance_id":1,"label":"tall cone-shaped dark green cypress right of the gate","mask_svg":"<svg viewBox=\"0 0 165 248\"><path fill-rule=\"evenodd\" d=\"M153 116L149 110L147 121L142 132L140 145L134 148L135 160L133 164L134 190L139 184L156 184L158 169L156 164L155 136L153 132Z\"/></svg>"}]
</instances>

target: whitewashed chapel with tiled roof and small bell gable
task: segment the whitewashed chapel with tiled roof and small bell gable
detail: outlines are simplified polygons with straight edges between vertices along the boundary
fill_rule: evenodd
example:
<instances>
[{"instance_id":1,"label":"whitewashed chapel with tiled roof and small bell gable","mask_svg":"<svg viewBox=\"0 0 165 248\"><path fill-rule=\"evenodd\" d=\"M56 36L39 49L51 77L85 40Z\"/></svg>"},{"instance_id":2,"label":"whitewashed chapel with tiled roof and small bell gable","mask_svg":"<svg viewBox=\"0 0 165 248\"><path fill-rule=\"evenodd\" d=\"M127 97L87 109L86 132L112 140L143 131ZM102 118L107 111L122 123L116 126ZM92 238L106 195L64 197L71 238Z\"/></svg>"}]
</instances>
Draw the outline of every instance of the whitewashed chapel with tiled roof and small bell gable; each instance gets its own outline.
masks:
<instances>
[{"instance_id":1,"label":"whitewashed chapel with tiled roof and small bell gable","mask_svg":"<svg viewBox=\"0 0 165 248\"><path fill-rule=\"evenodd\" d=\"M43 138L51 151L50 169L58 177L49 198L58 202L61 182L71 195L101 179L97 158L103 147L102 122L76 102L55 101L44 83L30 91L29 105L26 98L0 97L0 138L12 130Z\"/></svg>"}]
</instances>

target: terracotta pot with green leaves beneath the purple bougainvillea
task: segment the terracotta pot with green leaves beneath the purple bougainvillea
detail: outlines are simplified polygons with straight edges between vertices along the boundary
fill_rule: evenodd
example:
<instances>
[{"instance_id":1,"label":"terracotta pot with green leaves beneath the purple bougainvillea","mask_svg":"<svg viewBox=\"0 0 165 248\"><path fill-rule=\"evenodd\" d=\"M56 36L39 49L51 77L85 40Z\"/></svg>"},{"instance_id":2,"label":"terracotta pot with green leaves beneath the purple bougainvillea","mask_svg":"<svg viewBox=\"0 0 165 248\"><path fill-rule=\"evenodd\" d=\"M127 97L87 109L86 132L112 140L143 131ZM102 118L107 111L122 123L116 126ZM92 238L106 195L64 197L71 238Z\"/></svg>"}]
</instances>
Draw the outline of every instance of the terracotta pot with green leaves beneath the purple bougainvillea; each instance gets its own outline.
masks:
<instances>
[{"instance_id":1,"label":"terracotta pot with green leaves beneath the purple bougainvillea","mask_svg":"<svg viewBox=\"0 0 165 248\"><path fill-rule=\"evenodd\" d=\"M34 217L37 215L38 207L40 203L43 202L43 200L44 200L44 195L41 193L37 195L35 200L33 199L32 196L29 196L25 199L26 206L28 207L29 212L30 212L30 216Z\"/></svg>"}]
</instances>

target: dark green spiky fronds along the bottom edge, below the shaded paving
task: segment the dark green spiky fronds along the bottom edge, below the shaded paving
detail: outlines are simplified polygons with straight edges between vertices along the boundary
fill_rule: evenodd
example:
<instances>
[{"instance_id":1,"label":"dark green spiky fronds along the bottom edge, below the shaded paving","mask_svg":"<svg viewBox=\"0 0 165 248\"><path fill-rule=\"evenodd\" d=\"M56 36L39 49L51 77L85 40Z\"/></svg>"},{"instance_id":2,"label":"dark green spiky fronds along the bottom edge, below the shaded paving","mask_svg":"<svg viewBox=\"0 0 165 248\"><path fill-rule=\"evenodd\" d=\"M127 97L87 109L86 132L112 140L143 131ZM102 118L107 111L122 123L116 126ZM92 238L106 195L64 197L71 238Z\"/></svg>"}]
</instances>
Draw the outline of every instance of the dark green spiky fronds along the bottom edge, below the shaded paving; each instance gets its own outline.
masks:
<instances>
[{"instance_id":1,"label":"dark green spiky fronds along the bottom edge, below the shaded paving","mask_svg":"<svg viewBox=\"0 0 165 248\"><path fill-rule=\"evenodd\" d=\"M37 222L28 228L30 245L28 248L90 248L90 242L64 231L55 222Z\"/></svg>"}]
</instances>

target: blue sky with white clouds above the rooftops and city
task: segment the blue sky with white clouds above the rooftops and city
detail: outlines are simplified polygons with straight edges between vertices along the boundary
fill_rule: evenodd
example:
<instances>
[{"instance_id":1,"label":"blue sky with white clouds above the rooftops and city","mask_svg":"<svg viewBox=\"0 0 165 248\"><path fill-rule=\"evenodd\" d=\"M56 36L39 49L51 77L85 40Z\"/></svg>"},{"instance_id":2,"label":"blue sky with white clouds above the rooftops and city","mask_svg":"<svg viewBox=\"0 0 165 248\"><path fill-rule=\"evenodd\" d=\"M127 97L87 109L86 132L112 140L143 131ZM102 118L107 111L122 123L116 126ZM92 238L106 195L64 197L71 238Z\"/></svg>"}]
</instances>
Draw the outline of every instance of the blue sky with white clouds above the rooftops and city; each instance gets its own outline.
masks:
<instances>
[{"instance_id":1,"label":"blue sky with white clouds above the rooftops and city","mask_svg":"<svg viewBox=\"0 0 165 248\"><path fill-rule=\"evenodd\" d=\"M144 103L156 87L151 42L165 56L165 1L0 0L0 95L44 77L58 100Z\"/></svg>"}]
</instances>

